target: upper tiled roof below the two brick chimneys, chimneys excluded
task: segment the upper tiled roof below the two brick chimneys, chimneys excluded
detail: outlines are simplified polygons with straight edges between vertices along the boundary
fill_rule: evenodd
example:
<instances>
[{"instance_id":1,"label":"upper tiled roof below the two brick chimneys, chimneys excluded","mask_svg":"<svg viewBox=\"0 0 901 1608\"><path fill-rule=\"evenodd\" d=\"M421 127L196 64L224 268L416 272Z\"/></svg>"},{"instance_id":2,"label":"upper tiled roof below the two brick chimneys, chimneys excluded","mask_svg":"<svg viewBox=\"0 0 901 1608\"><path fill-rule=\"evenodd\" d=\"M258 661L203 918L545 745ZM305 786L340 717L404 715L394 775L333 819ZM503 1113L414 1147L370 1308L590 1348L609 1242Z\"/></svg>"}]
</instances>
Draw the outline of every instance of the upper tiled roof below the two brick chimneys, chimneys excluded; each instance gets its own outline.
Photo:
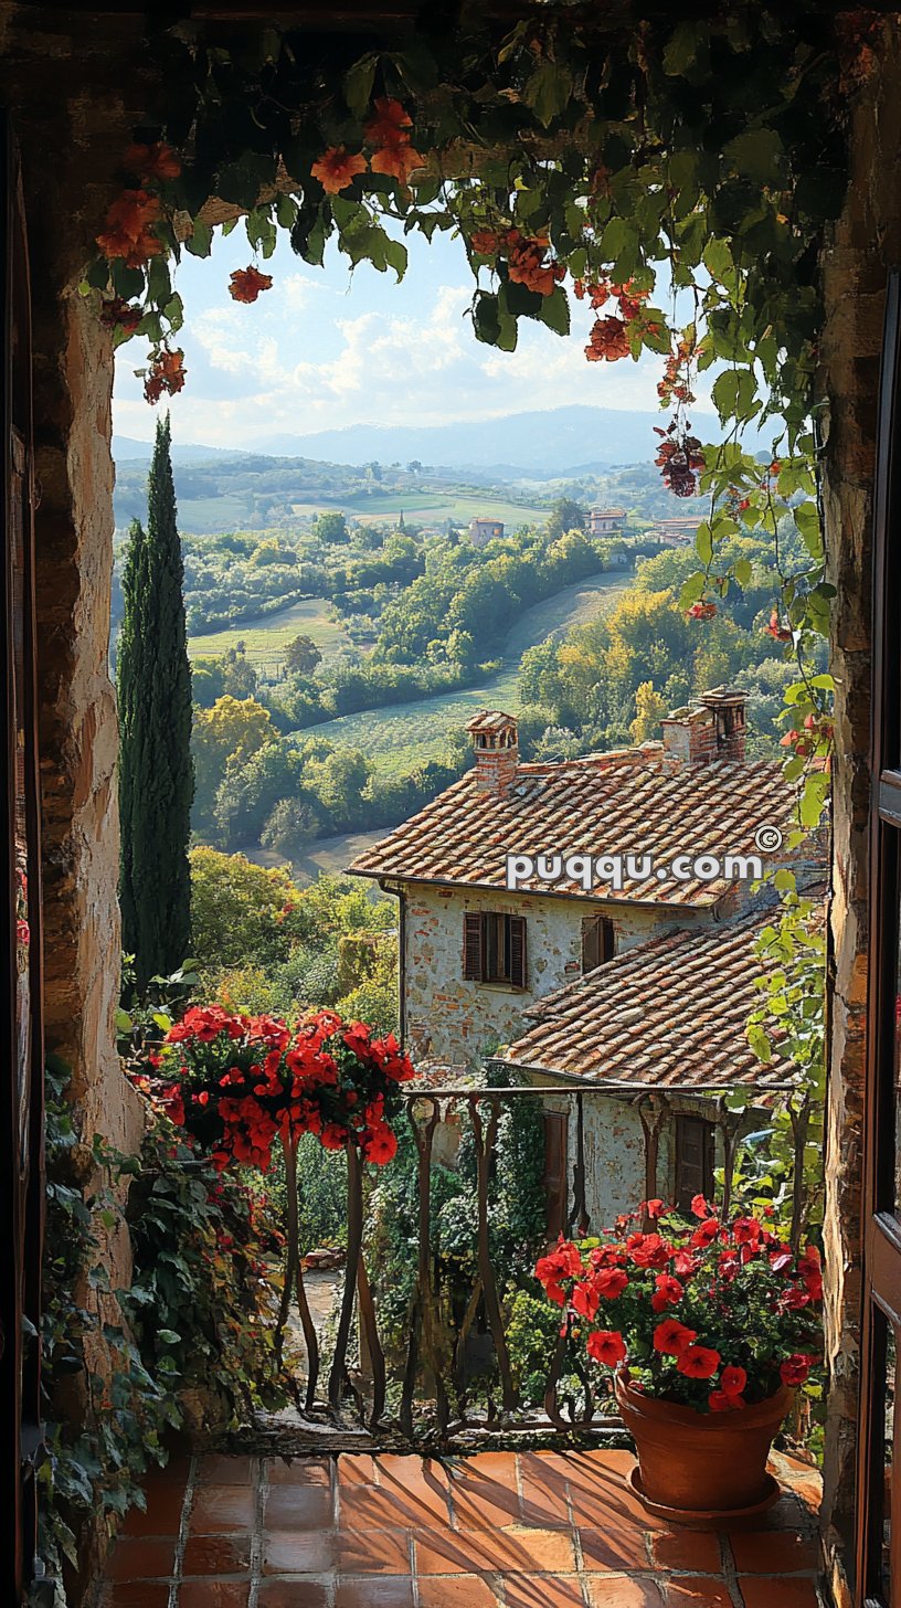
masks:
<instances>
[{"instance_id":1,"label":"upper tiled roof below the two brick chimneys, chimneys excluded","mask_svg":"<svg viewBox=\"0 0 901 1608\"><path fill-rule=\"evenodd\" d=\"M722 857L759 854L758 827L793 830L795 796L779 764L674 764L660 743L592 754L563 764L520 765L507 793L476 788L468 770L460 781L351 863L357 876L397 881L505 888L508 854L652 855L660 867L677 854ZM763 855L764 868L771 860ZM652 905L716 904L730 883L624 880L584 888L570 878L550 884L537 876L521 892L619 899Z\"/></svg>"}]
</instances>

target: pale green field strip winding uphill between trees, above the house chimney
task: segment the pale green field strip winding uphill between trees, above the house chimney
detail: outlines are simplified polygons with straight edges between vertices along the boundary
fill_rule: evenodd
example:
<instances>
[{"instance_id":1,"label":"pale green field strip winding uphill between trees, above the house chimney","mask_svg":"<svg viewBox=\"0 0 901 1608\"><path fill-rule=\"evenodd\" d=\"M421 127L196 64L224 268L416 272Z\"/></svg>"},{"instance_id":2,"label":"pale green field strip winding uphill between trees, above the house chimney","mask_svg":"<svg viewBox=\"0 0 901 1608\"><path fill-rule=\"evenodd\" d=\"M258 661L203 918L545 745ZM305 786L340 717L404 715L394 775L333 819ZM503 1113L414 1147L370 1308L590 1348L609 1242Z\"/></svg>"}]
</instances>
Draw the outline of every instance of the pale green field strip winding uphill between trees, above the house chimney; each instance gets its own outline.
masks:
<instances>
[{"instance_id":1,"label":"pale green field strip winding uphill between trees, above the house chimney","mask_svg":"<svg viewBox=\"0 0 901 1608\"><path fill-rule=\"evenodd\" d=\"M359 748L367 759L372 759L376 770L386 773L402 775L428 759L442 759L449 733L471 720L479 709L516 712L520 659L526 648L544 642L553 630L565 630L613 608L618 593L631 579L631 571L621 576L592 576L574 587L566 587L545 603L536 603L507 637L504 669L479 687L417 698L391 704L388 709L362 709L359 714L344 714L336 720L306 727L299 735L327 736L330 743Z\"/></svg>"}]
</instances>

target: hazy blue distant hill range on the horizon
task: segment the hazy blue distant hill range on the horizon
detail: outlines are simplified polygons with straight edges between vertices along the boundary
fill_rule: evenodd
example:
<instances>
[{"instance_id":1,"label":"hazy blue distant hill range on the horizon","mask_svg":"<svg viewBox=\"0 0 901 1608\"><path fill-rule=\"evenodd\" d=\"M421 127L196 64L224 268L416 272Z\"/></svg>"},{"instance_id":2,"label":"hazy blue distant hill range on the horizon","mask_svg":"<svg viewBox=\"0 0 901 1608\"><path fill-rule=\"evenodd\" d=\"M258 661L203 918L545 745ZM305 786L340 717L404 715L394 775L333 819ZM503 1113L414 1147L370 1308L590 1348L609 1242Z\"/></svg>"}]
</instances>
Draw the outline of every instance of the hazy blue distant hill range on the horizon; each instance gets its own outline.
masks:
<instances>
[{"instance_id":1,"label":"hazy blue distant hill range on the horizon","mask_svg":"<svg viewBox=\"0 0 901 1608\"><path fill-rule=\"evenodd\" d=\"M413 460L434 468L489 470L502 479L528 474L553 479L563 474L586 474L627 463L650 463L655 449L655 426L664 413L616 412L602 407L558 407L531 413L508 413L504 418L463 420L450 425L348 425L312 436L264 436L245 452L277 458L315 458L327 463L385 465ZM693 420L701 439L719 433L711 413ZM771 431L772 434L772 431ZM758 439L748 433L748 445ZM150 442L116 436L116 461L150 458ZM224 447L177 445L174 458L198 463L211 458L240 457Z\"/></svg>"}]
</instances>

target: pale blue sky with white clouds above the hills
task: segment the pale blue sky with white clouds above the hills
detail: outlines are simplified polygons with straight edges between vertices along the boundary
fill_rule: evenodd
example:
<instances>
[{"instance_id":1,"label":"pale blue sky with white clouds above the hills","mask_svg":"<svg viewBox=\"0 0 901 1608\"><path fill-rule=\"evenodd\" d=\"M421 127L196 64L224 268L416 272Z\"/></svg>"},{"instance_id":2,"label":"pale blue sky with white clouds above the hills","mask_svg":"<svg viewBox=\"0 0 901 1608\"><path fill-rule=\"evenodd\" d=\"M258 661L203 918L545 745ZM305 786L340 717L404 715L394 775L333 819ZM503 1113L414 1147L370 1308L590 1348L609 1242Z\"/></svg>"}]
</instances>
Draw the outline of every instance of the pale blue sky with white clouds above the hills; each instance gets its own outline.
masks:
<instances>
[{"instance_id":1,"label":"pale blue sky with white clouds above the hills","mask_svg":"<svg viewBox=\"0 0 901 1608\"><path fill-rule=\"evenodd\" d=\"M523 320L516 351L497 352L475 339L463 317L471 275L462 241L436 235L430 246L412 235L407 246L410 262L397 285L391 270L378 273L365 262L351 275L335 248L323 269L309 267L280 233L274 257L259 264L274 286L253 306L228 296L232 270L253 260L241 225L225 240L217 235L206 260L185 252L175 270L188 375L171 404L177 437L243 449L274 434L359 423L441 425L571 404L658 405L658 357L586 360L586 304L573 306L568 339ZM154 410L134 375L143 360L140 339L117 352L114 421L119 434L150 441Z\"/></svg>"}]
</instances>

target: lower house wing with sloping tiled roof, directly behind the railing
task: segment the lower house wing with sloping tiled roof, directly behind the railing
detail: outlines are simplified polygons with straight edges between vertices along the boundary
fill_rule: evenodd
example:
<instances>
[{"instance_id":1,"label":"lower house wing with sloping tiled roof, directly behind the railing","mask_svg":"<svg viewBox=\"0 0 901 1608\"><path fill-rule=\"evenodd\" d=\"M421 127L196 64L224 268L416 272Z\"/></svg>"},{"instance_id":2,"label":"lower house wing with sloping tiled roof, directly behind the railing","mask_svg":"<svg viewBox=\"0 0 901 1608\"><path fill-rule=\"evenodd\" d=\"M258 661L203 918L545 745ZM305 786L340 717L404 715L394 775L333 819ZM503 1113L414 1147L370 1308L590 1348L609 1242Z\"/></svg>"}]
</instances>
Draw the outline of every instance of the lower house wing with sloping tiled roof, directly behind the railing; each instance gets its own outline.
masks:
<instances>
[{"instance_id":1,"label":"lower house wing with sloping tiled roof, directly behind the railing","mask_svg":"<svg viewBox=\"0 0 901 1608\"><path fill-rule=\"evenodd\" d=\"M771 915L771 912L769 912ZM582 1089L582 1177L594 1230L656 1196L687 1208L713 1195L738 1132L767 1121L792 1082L776 1048L763 1064L745 1037L764 966L755 910L703 933L652 939L533 1005L500 1063L547 1089ZM779 1045L779 1024L769 1029ZM721 1097L753 1090L742 1118ZM544 1097L547 1227L565 1229L566 1180L579 1159L574 1101Z\"/></svg>"}]
</instances>

